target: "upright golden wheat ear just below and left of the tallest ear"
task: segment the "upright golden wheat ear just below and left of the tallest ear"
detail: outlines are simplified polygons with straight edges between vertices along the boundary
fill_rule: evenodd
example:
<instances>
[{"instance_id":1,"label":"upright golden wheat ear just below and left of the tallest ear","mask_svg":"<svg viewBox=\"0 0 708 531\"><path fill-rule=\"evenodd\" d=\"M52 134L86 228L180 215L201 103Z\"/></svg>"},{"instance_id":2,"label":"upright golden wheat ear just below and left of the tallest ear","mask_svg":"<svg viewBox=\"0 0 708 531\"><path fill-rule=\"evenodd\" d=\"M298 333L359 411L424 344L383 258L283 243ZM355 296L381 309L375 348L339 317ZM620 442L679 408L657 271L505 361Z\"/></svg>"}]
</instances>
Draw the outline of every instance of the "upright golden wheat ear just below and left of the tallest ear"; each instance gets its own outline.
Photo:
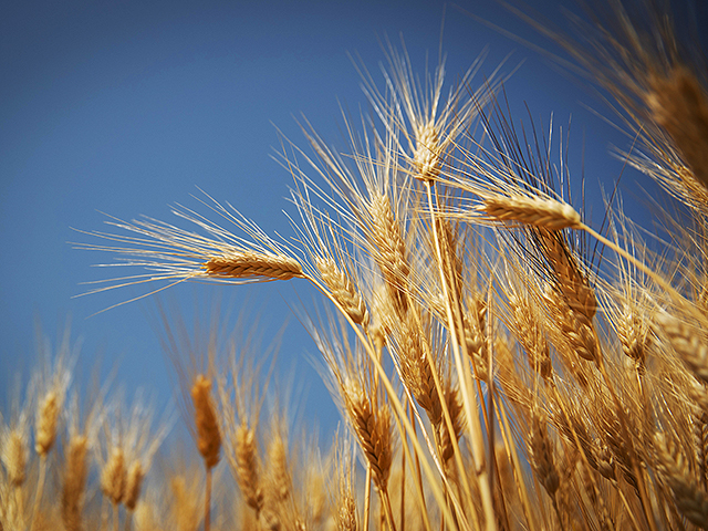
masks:
<instances>
[{"instance_id":1,"label":"upright golden wheat ear just below and left of the tallest ear","mask_svg":"<svg viewBox=\"0 0 708 531\"><path fill-rule=\"evenodd\" d=\"M400 226L391 210L391 201L385 195L377 195L371 201L372 240L376 247L374 260L381 269L386 289L399 314L408 309L407 279L410 273L406 244Z\"/></svg>"}]
</instances>

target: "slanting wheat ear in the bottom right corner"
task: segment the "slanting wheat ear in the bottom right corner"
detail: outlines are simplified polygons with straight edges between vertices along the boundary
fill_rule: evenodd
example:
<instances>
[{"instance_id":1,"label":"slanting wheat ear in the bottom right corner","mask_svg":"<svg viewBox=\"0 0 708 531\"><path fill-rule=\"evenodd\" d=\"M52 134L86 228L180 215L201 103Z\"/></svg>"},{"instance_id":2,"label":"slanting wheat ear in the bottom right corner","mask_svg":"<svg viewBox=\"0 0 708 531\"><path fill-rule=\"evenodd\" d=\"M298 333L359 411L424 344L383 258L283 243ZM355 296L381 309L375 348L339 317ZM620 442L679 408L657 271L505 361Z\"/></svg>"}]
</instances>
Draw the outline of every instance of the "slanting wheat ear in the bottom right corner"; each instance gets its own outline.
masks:
<instances>
[{"instance_id":1,"label":"slanting wheat ear in the bottom right corner","mask_svg":"<svg viewBox=\"0 0 708 531\"><path fill-rule=\"evenodd\" d=\"M657 433L655 438L657 470L674 496L676 508L691 523L708 529L708 494L690 477L688 464L676 445Z\"/></svg>"}]
</instances>

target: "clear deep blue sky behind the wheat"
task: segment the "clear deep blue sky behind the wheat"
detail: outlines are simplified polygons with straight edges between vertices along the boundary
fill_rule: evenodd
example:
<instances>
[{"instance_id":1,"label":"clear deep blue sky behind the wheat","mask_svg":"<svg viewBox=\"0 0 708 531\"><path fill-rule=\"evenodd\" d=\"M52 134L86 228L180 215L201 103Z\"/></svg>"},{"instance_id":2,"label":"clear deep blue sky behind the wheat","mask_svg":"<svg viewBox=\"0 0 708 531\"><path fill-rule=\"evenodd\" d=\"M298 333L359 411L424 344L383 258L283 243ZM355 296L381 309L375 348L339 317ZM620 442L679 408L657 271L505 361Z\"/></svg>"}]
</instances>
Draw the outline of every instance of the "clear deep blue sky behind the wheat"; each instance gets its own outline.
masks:
<instances>
[{"instance_id":1,"label":"clear deep blue sky behind the wheat","mask_svg":"<svg viewBox=\"0 0 708 531\"><path fill-rule=\"evenodd\" d=\"M552 49L503 8L487 0L460 4L479 17ZM563 23L558 2L529 1ZM564 2L568 4L569 2ZM340 106L353 115L365 97L347 53L374 74L384 59L381 41L399 42L423 72L426 51L437 56L441 2L236 1L236 2L9 2L0 18L0 403L12 374L34 358L34 323L55 340L71 319L83 339L80 373L96 360L118 362L116 379L171 394L154 304L142 301L91 316L146 291L117 290L72 298L81 282L107 278L92 268L112 256L72 249L94 241L72 231L102 230L107 212L122 219L147 215L177 221L169 205L199 208L204 189L229 201L269 233L291 235L290 175L270 155L275 126L304 146L294 116L304 114L320 134L344 147ZM611 186L622 165L607 155L627 140L587 111L606 108L583 86L535 52L447 7L442 49L454 81L489 46L481 75L509 53L506 72L523 62L507 84L518 118L556 124L572 115L571 156L580 177L585 150L589 188ZM434 61L434 60L433 60ZM377 77L381 80L381 77ZM628 181L631 183L631 180ZM645 183L645 181L642 181ZM632 195L641 192L627 191ZM596 204L596 208L600 205ZM204 211L204 209L201 210ZM292 209L291 209L292 211ZM96 241L97 242L97 241ZM247 304L260 315L264 342L290 324L279 373L304 387L305 415L325 429L336 410L306 361L313 342L291 306L316 295L294 282L223 287L180 285L164 301L189 321L195 302L221 298L233 314ZM153 310L150 310L150 308ZM201 310L198 311L198 313ZM205 313L208 313L205 311ZM88 319L87 319L88 317ZM202 321L208 321L202 317Z\"/></svg>"}]
</instances>

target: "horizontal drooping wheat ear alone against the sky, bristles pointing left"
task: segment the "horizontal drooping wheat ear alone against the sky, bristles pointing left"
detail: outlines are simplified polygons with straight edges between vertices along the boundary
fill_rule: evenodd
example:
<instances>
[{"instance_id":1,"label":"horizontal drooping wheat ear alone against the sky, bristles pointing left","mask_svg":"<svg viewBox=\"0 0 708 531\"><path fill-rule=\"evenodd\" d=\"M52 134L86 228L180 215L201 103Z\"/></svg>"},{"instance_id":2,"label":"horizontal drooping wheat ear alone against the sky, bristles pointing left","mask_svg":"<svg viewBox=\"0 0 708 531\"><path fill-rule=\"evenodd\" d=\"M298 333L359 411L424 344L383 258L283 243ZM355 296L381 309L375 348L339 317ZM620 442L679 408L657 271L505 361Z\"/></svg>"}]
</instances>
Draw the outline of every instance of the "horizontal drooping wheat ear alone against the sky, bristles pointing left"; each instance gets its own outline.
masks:
<instances>
[{"instance_id":1,"label":"horizontal drooping wheat ear alone against the sky, bristles pointing left","mask_svg":"<svg viewBox=\"0 0 708 531\"><path fill-rule=\"evenodd\" d=\"M202 264L209 277L229 279L264 278L290 280L302 278L302 266L284 254L240 251L212 257Z\"/></svg>"}]
</instances>

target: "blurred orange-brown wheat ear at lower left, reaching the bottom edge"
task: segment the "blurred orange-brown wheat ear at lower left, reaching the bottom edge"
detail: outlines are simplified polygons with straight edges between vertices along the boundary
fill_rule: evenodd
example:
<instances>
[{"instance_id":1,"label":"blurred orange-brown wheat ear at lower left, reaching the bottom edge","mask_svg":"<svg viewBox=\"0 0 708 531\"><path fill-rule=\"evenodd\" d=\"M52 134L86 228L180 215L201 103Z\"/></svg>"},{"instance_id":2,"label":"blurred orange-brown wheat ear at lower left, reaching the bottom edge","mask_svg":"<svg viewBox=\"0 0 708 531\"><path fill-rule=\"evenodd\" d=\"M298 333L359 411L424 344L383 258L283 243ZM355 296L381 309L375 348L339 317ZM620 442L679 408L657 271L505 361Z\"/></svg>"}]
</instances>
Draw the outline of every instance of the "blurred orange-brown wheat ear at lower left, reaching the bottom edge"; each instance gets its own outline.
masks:
<instances>
[{"instance_id":1,"label":"blurred orange-brown wheat ear at lower left, reaching the bottom edge","mask_svg":"<svg viewBox=\"0 0 708 531\"><path fill-rule=\"evenodd\" d=\"M64 477L62 482L61 513L66 531L83 529L83 499L88 476L88 439L74 435L64 451Z\"/></svg>"}]
</instances>

